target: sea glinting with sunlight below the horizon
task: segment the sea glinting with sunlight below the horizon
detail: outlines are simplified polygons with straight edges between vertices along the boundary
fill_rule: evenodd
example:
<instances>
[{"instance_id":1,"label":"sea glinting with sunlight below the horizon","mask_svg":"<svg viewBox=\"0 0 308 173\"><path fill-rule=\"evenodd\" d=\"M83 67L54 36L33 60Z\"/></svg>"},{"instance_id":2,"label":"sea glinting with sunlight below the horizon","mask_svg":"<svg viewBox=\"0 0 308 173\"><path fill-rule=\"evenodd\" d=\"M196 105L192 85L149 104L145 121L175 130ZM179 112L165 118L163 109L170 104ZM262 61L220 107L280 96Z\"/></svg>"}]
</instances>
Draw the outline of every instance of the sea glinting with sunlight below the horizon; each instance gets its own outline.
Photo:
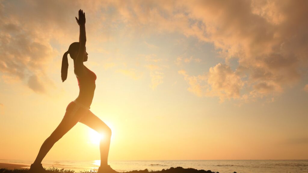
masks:
<instances>
[{"instance_id":1,"label":"sea glinting with sunlight below the horizon","mask_svg":"<svg viewBox=\"0 0 308 173\"><path fill-rule=\"evenodd\" d=\"M30 165L33 161L4 160L0 163ZM57 167L79 171L97 171L100 160L91 161L43 161L43 167ZM308 160L131 160L109 161L116 171L162 170L170 167L195 168L220 173L308 173ZM29 168L29 167L27 167Z\"/></svg>"}]
</instances>

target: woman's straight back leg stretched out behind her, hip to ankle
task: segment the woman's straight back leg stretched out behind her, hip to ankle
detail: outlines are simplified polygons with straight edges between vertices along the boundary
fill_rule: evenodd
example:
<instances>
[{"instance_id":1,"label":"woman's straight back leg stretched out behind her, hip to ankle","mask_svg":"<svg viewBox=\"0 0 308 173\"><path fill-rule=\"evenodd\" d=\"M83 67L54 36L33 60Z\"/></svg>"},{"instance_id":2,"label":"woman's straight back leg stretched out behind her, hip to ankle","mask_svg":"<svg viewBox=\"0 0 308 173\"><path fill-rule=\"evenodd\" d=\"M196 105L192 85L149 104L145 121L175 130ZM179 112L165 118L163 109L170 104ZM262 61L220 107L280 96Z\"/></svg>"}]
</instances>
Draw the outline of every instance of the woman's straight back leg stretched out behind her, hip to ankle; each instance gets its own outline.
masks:
<instances>
[{"instance_id":1,"label":"woman's straight back leg stretched out behind her, hip to ankle","mask_svg":"<svg viewBox=\"0 0 308 173\"><path fill-rule=\"evenodd\" d=\"M80 111L78 111L80 110ZM77 106L75 103L71 102L66 109L65 115L59 124L59 126L55 129L54 132L44 141L42 147L39 150L39 154L37 155L34 164L40 164L44 157L47 155L48 151L51 147L63 137L72 127L78 123L80 117L83 112L82 108Z\"/></svg>"}]
</instances>

